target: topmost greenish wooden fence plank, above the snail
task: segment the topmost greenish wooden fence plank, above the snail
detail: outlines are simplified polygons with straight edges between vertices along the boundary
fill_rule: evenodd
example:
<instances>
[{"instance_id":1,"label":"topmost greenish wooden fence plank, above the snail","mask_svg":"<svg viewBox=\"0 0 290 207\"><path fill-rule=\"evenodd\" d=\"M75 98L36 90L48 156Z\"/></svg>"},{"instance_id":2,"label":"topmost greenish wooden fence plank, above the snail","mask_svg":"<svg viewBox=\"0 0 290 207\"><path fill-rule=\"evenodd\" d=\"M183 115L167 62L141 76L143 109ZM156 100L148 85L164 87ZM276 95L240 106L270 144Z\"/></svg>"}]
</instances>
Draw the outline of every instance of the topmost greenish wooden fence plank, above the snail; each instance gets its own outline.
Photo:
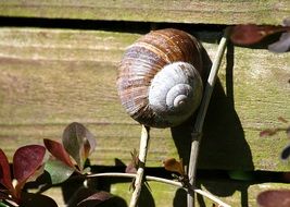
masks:
<instances>
[{"instance_id":1,"label":"topmost greenish wooden fence plank, above the snail","mask_svg":"<svg viewBox=\"0 0 290 207\"><path fill-rule=\"evenodd\" d=\"M80 19L203 24L280 24L289 16L288 0L125 1L1 0L1 16Z\"/></svg>"}]
</instances>

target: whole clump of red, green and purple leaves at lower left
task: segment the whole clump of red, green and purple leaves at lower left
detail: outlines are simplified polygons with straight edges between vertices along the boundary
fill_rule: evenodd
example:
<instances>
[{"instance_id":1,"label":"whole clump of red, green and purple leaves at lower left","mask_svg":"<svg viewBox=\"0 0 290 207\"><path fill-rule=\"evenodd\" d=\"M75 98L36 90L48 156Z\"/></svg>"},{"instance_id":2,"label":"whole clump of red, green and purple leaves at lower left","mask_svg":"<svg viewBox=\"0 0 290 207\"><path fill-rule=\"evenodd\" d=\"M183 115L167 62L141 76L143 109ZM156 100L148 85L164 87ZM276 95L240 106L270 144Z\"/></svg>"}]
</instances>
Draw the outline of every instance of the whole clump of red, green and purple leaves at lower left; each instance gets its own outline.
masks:
<instances>
[{"instance_id":1,"label":"whole clump of red, green and purple leaves at lower left","mask_svg":"<svg viewBox=\"0 0 290 207\"><path fill-rule=\"evenodd\" d=\"M43 143L46 147L27 145L15 151L13 176L9 160L0 149L0 205L58 206L48 196L27 193L24 190L25 184L35 181L45 171L49 173L52 185L66 181L73 174L86 175L89 172L89 168L85 167L89 155L96 148L96 139L83 124L74 122L67 125L63 132L62 144L52 139L43 139ZM51 154L49 159L46 159L47 150ZM83 187L75 197L77 203L73 206L97 206L113 196L108 192Z\"/></svg>"}]
</instances>

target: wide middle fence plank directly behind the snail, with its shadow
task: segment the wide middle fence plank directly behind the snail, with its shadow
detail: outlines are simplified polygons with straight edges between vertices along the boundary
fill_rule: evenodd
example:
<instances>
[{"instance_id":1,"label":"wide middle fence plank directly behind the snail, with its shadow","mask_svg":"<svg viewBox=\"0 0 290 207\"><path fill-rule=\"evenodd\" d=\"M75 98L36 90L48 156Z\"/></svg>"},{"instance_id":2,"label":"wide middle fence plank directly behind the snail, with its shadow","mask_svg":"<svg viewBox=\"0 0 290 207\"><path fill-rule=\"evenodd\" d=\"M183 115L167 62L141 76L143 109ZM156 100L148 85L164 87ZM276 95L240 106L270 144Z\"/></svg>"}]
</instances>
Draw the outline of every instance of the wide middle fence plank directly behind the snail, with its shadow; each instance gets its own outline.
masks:
<instances>
[{"instance_id":1,"label":"wide middle fence plank directly behind the snail, with its shadow","mask_svg":"<svg viewBox=\"0 0 290 207\"><path fill-rule=\"evenodd\" d=\"M194 33L211 58L218 33ZM93 165L130 160L140 126L122 108L115 87L116 64L140 34L102 31L0 29L0 138L11 160L15 149L42 138L60 139L66 124L78 121L96 134ZM210 38L210 40L209 40ZM279 161L283 133L260 138L265 127L290 120L288 53L234 48L232 83L219 73L201 146L199 168L288 171ZM228 58L229 58L228 57ZM229 58L230 59L230 58ZM227 78L227 83L226 83ZM148 166L167 157L187 162L190 131L152 130ZM172 134L174 139L172 138Z\"/></svg>"}]
</instances>

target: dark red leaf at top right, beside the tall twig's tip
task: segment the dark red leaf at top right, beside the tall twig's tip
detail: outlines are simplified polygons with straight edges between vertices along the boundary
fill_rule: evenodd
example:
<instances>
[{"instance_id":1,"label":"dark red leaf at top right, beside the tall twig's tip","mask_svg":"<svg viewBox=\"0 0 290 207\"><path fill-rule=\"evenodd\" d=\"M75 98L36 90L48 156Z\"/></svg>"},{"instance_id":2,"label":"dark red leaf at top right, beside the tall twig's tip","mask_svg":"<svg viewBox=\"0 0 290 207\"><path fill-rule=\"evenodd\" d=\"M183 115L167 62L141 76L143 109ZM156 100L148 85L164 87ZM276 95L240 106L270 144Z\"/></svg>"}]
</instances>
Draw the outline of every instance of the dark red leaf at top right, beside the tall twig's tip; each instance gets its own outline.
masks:
<instances>
[{"instance_id":1,"label":"dark red leaf at top right, beside the tall twig's tip","mask_svg":"<svg viewBox=\"0 0 290 207\"><path fill-rule=\"evenodd\" d=\"M289 28L282 26L257 26L254 24L237 25L231 29L230 39L234 44L247 46L256 44L268 35L287 29Z\"/></svg>"}]
</instances>

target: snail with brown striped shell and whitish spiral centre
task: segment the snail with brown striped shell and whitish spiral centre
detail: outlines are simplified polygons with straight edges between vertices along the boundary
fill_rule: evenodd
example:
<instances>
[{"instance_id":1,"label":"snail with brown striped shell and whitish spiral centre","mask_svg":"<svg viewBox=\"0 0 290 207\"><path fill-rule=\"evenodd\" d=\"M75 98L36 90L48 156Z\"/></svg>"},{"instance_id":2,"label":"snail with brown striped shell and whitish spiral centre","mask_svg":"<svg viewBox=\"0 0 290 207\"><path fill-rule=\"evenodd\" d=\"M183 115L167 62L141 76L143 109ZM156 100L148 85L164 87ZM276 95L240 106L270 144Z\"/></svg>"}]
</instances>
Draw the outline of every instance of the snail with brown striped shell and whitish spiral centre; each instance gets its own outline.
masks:
<instances>
[{"instance_id":1,"label":"snail with brown striped shell and whitish spiral centre","mask_svg":"<svg viewBox=\"0 0 290 207\"><path fill-rule=\"evenodd\" d=\"M186 32L148 33L129 46L118 65L117 90L128 114L152 127L185 122L200 105L201 45Z\"/></svg>"}]
</instances>

